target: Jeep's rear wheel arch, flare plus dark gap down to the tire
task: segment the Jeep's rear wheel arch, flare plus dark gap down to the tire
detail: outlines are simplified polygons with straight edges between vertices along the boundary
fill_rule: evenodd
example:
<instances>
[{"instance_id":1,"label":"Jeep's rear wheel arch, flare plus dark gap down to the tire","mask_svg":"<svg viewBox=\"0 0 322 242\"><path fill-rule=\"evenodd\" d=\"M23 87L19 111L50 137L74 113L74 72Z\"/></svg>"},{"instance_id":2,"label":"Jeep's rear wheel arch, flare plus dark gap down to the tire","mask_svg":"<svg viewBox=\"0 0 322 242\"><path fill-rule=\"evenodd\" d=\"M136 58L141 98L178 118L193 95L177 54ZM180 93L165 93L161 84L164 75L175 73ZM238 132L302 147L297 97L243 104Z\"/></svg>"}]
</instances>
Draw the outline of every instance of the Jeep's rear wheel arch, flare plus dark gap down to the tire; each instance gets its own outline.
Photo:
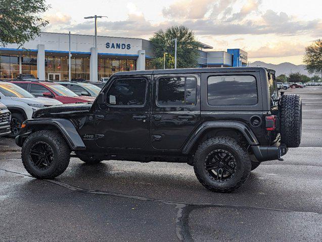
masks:
<instances>
[{"instance_id":1,"label":"Jeep's rear wheel arch, flare plus dark gap down to the tire","mask_svg":"<svg viewBox=\"0 0 322 242\"><path fill-rule=\"evenodd\" d=\"M201 124L189 137L182 148L183 154L190 154L198 148L198 145L210 137L229 136L241 138L248 145L258 145L256 136L252 130L243 123L234 121L208 121Z\"/></svg>"}]
</instances>

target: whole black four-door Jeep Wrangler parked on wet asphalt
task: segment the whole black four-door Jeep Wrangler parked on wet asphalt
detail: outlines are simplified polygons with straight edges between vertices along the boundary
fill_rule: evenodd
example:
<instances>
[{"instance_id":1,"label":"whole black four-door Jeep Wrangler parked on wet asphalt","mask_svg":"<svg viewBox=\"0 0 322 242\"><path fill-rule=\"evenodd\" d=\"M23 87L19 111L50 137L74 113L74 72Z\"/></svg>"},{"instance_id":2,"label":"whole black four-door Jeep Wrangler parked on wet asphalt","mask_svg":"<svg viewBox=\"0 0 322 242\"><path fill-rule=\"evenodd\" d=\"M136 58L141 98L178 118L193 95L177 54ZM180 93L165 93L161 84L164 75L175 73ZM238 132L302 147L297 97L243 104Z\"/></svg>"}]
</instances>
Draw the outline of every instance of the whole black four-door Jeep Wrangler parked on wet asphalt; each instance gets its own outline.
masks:
<instances>
[{"instance_id":1,"label":"whole black four-door Jeep Wrangler parked on wet asphalt","mask_svg":"<svg viewBox=\"0 0 322 242\"><path fill-rule=\"evenodd\" d=\"M262 161L301 140L302 103L279 97L273 70L201 68L114 74L94 103L35 111L16 138L37 178L64 172L70 157L186 162L203 186L236 190Z\"/></svg>"}]
</instances>

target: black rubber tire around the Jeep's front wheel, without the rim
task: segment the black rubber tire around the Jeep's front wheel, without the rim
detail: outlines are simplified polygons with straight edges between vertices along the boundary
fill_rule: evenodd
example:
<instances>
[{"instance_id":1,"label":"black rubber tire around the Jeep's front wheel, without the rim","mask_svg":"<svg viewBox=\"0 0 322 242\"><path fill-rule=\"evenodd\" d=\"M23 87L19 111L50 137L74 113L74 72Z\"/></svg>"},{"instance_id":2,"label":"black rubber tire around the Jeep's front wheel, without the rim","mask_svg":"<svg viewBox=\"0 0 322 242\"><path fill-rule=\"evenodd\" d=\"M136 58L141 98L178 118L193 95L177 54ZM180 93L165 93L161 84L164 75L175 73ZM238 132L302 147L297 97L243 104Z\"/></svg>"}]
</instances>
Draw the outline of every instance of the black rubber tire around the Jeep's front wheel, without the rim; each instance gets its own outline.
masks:
<instances>
[{"instance_id":1,"label":"black rubber tire around the Jeep's front wheel, without the rim","mask_svg":"<svg viewBox=\"0 0 322 242\"><path fill-rule=\"evenodd\" d=\"M36 142L48 144L54 152L53 162L48 169L38 169L31 161L29 151ZM66 170L70 160L70 148L59 132L49 130L37 131L32 133L24 142L21 159L30 175L39 179L51 179L59 176Z\"/></svg>"}]
</instances>

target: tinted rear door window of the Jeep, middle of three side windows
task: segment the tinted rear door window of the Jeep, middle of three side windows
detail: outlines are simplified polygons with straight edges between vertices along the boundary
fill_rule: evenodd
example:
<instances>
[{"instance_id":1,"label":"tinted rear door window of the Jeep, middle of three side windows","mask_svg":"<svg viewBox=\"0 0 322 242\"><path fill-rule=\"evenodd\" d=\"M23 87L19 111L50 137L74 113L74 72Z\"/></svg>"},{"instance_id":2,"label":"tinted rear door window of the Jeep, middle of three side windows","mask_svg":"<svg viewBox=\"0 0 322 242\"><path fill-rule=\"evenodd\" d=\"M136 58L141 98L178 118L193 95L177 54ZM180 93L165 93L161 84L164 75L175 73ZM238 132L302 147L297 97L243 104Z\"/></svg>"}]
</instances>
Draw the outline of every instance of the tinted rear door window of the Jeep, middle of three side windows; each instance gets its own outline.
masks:
<instances>
[{"instance_id":1,"label":"tinted rear door window of the Jeep, middle of three side windows","mask_svg":"<svg viewBox=\"0 0 322 242\"><path fill-rule=\"evenodd\" d=\"M197 80L194 77L163 77L158 80L159 105L195 105Z\"/></svg>"}]
</instances>

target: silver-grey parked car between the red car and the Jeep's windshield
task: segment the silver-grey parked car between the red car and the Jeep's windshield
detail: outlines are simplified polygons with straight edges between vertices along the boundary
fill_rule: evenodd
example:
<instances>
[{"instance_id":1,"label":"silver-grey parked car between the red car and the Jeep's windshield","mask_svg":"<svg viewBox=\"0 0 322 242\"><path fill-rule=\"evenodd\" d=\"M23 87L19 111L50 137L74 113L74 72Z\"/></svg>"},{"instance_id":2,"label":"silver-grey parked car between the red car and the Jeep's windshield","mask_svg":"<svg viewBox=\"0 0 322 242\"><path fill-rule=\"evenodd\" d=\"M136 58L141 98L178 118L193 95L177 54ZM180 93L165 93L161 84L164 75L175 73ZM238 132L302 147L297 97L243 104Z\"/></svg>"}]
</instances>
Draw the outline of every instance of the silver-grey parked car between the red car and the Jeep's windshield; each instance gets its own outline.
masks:
<instances>
[{"instance_id":1,"label":"silver-grey parked car between the red car and the Jeep's windshield","mask_svg":"<svg viewBox=\"0 0 322 242\"><path fill-rule=\"evenodd\" d=\"M85 82L56 82L64 87L67 87L78 96L97 97L101 92L101 88Z\"/></svg>"}]
</instances>

